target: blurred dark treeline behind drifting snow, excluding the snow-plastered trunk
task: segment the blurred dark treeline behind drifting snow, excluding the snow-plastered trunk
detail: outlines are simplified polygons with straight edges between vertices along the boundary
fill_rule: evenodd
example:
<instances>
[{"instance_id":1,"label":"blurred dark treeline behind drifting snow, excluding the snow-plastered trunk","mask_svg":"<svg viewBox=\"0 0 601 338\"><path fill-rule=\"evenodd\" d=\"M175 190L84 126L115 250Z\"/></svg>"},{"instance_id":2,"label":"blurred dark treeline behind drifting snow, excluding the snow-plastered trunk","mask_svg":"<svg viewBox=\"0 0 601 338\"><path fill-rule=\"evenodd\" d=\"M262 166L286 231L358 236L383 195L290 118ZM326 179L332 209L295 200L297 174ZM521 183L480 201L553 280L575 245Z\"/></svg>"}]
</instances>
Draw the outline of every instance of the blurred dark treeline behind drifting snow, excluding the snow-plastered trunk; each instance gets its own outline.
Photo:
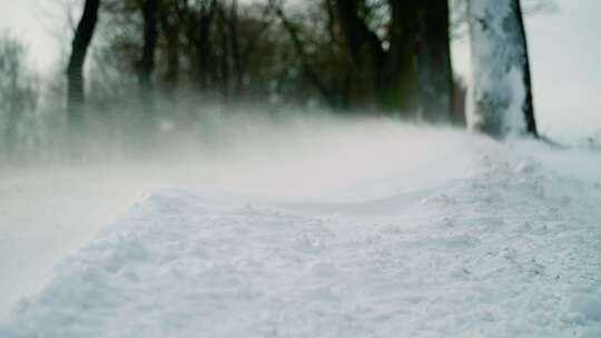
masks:
<instances>
[{"instance_id":1,"label":"blurred dark treeline behind drifting snow, excluding the snow-plastered trunk","mask_svg":"<svg viewBox=\"0 0 601 338\"><path fill-rule=\"evenodd\" d=\"M81 9L93 2L91 47L76 54L78 30L91 18ZM40 88L24 68L23 47L9 34L0 41L3 158L53 157L60 151L52 148L82 142L156 145L156 136L206 132L207 115L216 112L295 107L465 122L465 89L453 79L450 48L463 1L75 3L71 62L60 66L67 77ZM73 56L86 64L80 76Z\"/></svg>"}]
</instances>

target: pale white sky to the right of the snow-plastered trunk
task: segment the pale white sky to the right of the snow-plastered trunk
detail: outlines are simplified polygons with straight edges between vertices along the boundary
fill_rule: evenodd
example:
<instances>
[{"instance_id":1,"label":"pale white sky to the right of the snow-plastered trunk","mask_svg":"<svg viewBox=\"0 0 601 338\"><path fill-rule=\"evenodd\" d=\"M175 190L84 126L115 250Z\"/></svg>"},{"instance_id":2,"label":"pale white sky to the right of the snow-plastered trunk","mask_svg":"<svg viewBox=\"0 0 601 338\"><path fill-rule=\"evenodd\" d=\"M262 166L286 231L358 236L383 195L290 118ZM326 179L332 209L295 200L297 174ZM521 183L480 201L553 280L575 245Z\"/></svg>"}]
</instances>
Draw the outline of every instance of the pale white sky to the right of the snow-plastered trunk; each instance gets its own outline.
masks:
<instances>
[{"instance_id":1,"label":"pale white sky to the right of the snow-plastered trunk","mask_svg":"<svg viewBox=\"0 0 601 338\"><path fill-rule=\"evenodd\" d=\"M601 132L601 1L559 3L558 13L526 20L540 125L556 133Z\"/></svg>"}]
</instances>

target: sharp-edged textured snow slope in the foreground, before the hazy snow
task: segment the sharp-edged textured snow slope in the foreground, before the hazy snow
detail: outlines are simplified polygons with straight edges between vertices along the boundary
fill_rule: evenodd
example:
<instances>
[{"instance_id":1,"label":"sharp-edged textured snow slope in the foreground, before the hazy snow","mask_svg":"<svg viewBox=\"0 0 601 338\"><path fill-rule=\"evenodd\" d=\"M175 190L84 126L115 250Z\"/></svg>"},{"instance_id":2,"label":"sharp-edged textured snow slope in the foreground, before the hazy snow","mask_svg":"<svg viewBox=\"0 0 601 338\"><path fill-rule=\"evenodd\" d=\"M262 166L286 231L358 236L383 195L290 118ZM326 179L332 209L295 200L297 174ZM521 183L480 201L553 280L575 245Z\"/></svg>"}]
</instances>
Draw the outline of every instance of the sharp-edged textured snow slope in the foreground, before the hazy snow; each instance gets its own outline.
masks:
<instances>
[{"instance_id":1,"label":"sharp-edged textured snow slope in the foreground, before the hazy snow","mask_svg":"<svg viewBox=\"0 0 601 338\"><path fill-rule=\"evenodd\" d=\"M0 337L601 337L601 156L441 135L311 198L150 193Z\"/></svg>"}]
</instances>

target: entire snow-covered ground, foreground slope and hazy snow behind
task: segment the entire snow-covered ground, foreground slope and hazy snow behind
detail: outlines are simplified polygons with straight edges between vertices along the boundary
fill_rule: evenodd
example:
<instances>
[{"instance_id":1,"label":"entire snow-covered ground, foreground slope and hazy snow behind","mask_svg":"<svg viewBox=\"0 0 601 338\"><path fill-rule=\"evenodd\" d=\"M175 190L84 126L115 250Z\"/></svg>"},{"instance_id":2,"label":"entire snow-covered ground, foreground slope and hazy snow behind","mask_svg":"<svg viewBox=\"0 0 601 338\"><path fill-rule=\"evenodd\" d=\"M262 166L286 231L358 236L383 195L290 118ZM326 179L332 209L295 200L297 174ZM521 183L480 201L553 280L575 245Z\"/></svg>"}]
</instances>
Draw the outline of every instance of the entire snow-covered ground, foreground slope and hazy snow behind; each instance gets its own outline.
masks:
<instances>
[{"instance_id":1,"label":"entire snow-covered ground, foreground slope and hazy snow behind","mask_svg":"<svg viewBox=\"0 0 601 338\"><path fill-rule=\"evenodd\" d=\"M259 135L210 165L7 173L0 337L601 337L600 152Z\"/></svg>"}]
</instances>

